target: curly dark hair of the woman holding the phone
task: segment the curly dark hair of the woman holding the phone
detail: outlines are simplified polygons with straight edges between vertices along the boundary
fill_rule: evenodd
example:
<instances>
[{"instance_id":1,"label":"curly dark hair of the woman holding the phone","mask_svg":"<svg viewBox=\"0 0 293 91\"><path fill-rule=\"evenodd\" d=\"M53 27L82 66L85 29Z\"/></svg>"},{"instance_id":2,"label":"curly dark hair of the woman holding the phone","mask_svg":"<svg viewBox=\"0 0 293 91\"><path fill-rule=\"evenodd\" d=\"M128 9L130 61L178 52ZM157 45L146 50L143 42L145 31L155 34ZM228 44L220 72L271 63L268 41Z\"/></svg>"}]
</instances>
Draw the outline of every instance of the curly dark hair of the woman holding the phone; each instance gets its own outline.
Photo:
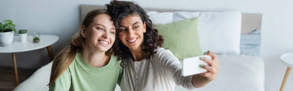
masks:
<instances>
[{"instance_id":1,"label":"curly dark hair of the woman holding the phone","mask_svg":"<svg viewBox=\"0 0 293 91\"><path fill-rule=\"evenodd\" d=\"M154 53L156 53L155 49L158 46L162 47L164 43L163 36L158 35L158 30L154 27L152 21L149 19L149 16L146 14L146 11L138 4L130 1L112 0L109 4L105 4L105 6L106 11L112 17L117 32L119 32L119 22L127 16L138 15L143 23L146 22L146 32L144 33L144 40L141 45L142 51L146 53L145 59L149 59L152 55L154 55ZM126 60L132 57L131 52L120 39L118 39L118 45L115 46L114 50L114 55L118 56L118 60L122 60L121 66L124 67L126 65Z\"/></svg>"}]
</instances>

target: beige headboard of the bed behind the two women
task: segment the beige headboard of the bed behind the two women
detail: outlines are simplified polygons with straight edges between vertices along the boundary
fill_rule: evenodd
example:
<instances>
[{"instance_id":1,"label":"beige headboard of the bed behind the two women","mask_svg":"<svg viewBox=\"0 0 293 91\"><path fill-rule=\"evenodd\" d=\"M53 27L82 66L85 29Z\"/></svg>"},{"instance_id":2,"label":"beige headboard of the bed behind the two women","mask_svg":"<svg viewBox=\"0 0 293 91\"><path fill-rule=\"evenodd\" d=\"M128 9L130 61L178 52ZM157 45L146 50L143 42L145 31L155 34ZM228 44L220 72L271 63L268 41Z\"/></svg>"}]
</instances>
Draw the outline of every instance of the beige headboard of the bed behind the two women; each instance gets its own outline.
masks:
<instances>
[{"instance_id":1,"label":"beige headboard of the bed behind the two women","mask_svg":"<svg viewBox=\"0 0 293 91\"><path fill-rule=\"evenodd\" d=\"M82 22L85 15L93 10L105 8L103 5L80 5L80 21ZM190 11L190 10L174 10L174 9L155 9L155 8L144 8L146 11L157 11L157 12L173 12L173 11ZM250 33L255 29L261 30L262 14L257 13L242 13L242 26L241 33Z\"/></svg>"}]
</instances>

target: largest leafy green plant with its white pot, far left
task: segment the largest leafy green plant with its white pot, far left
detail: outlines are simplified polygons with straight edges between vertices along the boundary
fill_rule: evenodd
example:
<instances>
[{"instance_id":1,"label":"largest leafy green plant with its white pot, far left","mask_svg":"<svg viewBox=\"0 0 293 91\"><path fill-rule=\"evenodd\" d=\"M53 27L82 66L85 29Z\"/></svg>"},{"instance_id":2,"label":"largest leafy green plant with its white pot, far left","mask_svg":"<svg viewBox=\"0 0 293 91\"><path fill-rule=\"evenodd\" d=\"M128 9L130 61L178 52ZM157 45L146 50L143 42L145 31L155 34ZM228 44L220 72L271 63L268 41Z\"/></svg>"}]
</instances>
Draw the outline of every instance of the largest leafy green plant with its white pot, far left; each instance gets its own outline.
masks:
<instances>
[{"instance_id":1,"label":"largest leafy green plant with its white pot, far left","mask_svg":"<svg viewBox=\"0 0 293 91\"><path fill-rule=\"evenodd\" d=\"M14 33L16 32L15 24L11 20L5 20L0 23L0 45L6 46L13 42Z\"/></svg>"}]
</instances>

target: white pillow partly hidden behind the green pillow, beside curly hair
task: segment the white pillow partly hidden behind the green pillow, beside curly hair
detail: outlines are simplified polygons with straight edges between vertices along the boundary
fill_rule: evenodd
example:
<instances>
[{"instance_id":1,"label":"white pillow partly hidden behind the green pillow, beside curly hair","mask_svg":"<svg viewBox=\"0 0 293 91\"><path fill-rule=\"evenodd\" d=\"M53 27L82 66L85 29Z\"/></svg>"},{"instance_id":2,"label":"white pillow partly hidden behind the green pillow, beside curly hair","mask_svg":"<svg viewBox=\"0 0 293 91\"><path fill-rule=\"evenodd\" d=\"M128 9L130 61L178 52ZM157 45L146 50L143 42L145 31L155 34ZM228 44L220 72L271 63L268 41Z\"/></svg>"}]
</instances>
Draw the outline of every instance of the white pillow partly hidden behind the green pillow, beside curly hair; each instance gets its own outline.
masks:
<instances>
[{"instance_id":1,"label":"white pillow partly hidden behind the green pillow, beside curly hair","mask_svg":"<svg viewBox=\"0 0 293 91\"><path fill-rule=\"evenodd\" d=\"M147 15L152 23L172 23L173 13L172 12L156 12L147 11Z\"/></svg>"}]
</instances>

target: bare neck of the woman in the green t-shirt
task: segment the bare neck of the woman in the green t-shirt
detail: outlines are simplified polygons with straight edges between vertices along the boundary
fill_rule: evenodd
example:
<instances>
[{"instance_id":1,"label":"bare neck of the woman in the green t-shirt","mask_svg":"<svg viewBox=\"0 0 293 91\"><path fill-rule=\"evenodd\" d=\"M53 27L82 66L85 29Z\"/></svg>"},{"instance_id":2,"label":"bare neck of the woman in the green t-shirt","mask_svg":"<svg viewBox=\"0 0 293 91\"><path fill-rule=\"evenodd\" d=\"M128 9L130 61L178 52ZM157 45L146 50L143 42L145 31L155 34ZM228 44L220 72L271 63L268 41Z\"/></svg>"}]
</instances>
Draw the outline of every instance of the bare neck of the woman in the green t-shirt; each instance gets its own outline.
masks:
<instances>
[{"instance_id":1,"label":"bare neck of the woman in the green t-shirt","mask_svg":"<svg viewBox=\"0 0 293 91\"><path fill-rule=\"evenodd\" d=\"M92 67L101 68L107 65L110 57L105 55L105 52L84 46L82 51L84 62Z\"/></svg>"}]
</instances>

